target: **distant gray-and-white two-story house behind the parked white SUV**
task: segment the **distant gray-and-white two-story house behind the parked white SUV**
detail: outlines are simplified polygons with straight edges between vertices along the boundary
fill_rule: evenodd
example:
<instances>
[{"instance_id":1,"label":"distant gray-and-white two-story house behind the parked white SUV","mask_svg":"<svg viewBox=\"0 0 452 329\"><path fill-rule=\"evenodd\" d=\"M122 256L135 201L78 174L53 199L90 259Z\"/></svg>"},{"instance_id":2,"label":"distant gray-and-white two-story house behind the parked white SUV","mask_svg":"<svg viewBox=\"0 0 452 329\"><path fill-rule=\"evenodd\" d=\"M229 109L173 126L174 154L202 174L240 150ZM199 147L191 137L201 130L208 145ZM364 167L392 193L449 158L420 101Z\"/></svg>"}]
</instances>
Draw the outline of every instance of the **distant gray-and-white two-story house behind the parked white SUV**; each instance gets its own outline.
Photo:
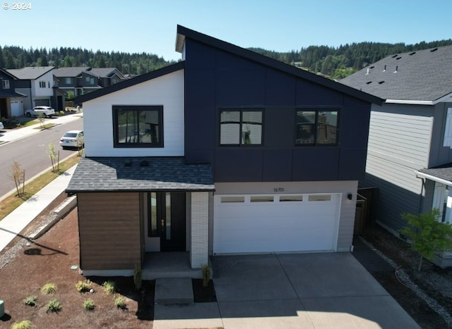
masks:
<instances>
[{"instance_id":1,"label":"distant gray-and-white two-story house behind the parked white SUV","mask_svg":"<svg viewBox=\"0 0 452 329\"><path fill-rule=\"evenodd\" d=\"M54 97L53 69L54 66L30 66L8 70L8 73L18 78L16 81L16 91L27 95L25 99L11 100L23 101L21 106L18 105L20 107L18 109L20 116L23 116L24 111L29 108L40 105L52 105L52 97Z\"/></svg>"}]
</instances>

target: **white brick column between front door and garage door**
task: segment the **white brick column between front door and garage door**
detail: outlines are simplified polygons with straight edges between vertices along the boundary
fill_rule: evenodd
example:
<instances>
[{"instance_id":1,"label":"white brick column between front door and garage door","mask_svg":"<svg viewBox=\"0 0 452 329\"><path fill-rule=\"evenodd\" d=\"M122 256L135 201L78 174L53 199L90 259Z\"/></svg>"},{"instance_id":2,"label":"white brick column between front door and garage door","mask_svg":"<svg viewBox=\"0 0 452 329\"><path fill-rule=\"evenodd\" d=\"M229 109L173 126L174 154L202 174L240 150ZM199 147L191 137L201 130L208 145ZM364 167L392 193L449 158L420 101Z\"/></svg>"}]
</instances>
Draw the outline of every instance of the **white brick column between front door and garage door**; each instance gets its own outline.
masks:
<instances>
[{"instance_id":1,"label":"white brick column between front door and garage door","mask_svg":"<svg viewBox=\"0 0 452 329\"><path fill-rule=\"evenodd\" d=\"M208 263L209 247L209 194L191 193L191 268Z\"/></svg>"}]
</instances>

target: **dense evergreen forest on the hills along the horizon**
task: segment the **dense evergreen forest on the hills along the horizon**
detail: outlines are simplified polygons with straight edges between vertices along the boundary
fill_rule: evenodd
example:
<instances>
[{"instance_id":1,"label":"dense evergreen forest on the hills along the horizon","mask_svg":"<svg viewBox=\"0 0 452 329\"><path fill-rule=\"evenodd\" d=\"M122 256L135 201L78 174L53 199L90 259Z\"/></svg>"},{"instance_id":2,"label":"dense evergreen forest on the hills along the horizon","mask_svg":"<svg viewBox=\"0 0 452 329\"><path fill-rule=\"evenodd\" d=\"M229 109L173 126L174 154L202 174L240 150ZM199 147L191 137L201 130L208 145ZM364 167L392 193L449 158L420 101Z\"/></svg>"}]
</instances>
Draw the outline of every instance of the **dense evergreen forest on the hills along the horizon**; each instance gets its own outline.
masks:
<instances>
[{"instance_id":1,"label":"dense evergreen forest on the hills along the horizon","mask_svg":"<svg viewBox=\"0 0 452 329\"><path fill-rule=\"evenodd\" d=\"M308 46L287 52L249 48L259 54L275 58L313 73L321 73L333 79L341 79L365 66L391 54L447 46L452 39L420 42L417 44L388 44L359 42L338 47ZM92 68L117 68L121 73L139 75L157 70L168 62L155 54L129 54L117 51L92 51L81 48L60 47L47 51L45 48L24 49L20 46L0 45L0 68L23 68L25 66L90 66Z\"/></svg>"}]
</instances>

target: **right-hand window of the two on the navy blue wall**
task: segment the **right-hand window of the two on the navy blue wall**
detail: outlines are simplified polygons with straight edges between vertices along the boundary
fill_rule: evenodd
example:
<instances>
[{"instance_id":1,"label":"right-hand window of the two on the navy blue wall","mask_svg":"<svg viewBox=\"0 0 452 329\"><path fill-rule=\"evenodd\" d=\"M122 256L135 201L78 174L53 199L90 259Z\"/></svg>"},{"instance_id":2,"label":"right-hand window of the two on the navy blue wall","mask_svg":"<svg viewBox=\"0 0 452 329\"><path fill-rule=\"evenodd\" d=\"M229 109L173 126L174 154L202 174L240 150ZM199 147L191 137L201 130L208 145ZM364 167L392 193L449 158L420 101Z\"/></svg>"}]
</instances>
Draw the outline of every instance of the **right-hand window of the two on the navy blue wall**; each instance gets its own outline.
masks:
<instances>
[{"instance_id":1,"label":"right-hand window of the two on the navy blue wall","mask_svg":"<svg viewBox=\"0 0 452 329\"><path fill-rule=\"evenodd\" d=\"M338 144L337 110L297 110L296 116L296 145Z\"/></svg>"}]
</instances>

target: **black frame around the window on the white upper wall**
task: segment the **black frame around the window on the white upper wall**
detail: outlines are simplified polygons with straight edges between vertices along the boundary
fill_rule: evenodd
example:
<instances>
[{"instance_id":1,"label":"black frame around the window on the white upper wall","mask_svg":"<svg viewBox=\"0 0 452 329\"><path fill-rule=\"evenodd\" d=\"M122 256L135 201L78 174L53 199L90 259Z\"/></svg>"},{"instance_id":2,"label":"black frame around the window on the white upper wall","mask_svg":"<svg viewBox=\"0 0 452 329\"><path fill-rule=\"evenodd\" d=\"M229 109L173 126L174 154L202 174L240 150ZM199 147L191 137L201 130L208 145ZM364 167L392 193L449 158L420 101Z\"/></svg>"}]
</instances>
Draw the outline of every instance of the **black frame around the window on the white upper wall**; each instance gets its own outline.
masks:
<instances>
[{"instance_id":1,"label":"black frame around the window on the white upper wall","mask_svg":"<svg viewBox=\"0 0 452 329\"><path fill-rule=\"evenodd\" d=\"M118 113L119 110L125 111L155 111L158 113L158 142L157 143L120 143L118 130ZM143 148L163 148L163 105L114 105L112 106L113 118L113 147L115 149L143 149Z\"/></svg>"}]
</instances>

